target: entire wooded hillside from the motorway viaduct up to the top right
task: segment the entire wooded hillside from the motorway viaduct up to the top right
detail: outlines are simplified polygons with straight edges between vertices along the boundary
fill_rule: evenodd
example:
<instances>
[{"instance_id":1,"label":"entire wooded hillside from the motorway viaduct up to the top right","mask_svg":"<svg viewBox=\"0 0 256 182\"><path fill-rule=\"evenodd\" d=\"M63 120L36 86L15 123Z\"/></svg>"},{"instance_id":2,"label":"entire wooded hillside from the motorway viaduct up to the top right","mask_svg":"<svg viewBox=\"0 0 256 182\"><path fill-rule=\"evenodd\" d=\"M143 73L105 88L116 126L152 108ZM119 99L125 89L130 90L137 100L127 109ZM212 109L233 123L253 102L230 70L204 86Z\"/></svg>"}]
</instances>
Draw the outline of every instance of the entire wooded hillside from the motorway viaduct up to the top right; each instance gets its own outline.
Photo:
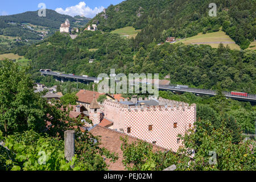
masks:
<instances>
[{"instance_id":1,"label":"entire wooded hillside from the motorway viaduct up to the top right","mask_svg":"<svg viewBox=\"0 0 256 182\"><path fill-rule=\"evenodd\" d=\"M200 31L218 31L221 26L227 34L239 33L230 34L237 43L250 43L255 34L253 2L216 1L217 17L210 17L209 1L128 0L109 6L89 22L98 23L105 32L80 32L74 40L56 32L42 43L15 49L14 53L32 60L32 73L38 81L38 70L43 68L94 77L115 68L117 73L126 75L170 75L173 84L256 93L255 51L230 50L222 44L217 49L182 43L158 46L167 36L182 38ZM142 31L135 39L108 32L126 26ZM242 47L243 43L238 44ZM94 60L91 64L90 59Z\"/></svg>"}]
</instances>

